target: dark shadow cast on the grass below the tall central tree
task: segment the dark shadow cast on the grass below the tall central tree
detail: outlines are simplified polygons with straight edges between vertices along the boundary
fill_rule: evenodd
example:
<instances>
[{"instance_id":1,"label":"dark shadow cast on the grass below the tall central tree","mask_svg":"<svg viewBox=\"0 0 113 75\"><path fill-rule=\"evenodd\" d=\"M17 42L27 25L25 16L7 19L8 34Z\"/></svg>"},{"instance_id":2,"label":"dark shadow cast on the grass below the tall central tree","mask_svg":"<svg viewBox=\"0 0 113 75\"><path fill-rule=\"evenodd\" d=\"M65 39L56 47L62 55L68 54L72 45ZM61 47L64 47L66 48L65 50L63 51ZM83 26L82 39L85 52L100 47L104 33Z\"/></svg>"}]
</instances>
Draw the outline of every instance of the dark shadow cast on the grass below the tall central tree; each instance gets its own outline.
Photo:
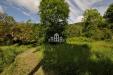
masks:
<instances>
[{"instance_id":1,"label":"dark shadow cast on the grass below the tall central tree","mask_svg":"<svg viewBox=\"0 0 113 75\"><path fill-rule=\"evenodd\" d=\"M113 63L109 59L90 59L88 45L45 45L43 70L46 75L113 75Z\"/></svg>"}]
</instances>

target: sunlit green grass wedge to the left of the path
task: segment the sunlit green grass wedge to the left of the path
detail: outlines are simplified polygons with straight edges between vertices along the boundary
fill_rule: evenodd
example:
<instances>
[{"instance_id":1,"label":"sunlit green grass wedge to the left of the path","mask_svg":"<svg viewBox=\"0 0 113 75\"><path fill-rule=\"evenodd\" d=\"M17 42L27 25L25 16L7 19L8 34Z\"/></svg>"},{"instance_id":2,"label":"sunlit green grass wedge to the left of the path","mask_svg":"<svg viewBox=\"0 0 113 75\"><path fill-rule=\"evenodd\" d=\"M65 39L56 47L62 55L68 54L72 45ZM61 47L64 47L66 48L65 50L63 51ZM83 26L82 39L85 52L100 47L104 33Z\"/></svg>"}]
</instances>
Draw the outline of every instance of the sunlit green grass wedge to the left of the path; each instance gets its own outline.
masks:
<instances>
[{"instance_id":1,"label":"sunlit green grass wedge to the left of the path","mask_svg":"<svg viewBox=\"0 0 113 75\"><path fill-rule=\"evenodd\" d=\"M27 50L30 46L0 46L0 72L3 71L4 68L8 67L15 59L15 57Z\"/></svg>"}]
</instances>

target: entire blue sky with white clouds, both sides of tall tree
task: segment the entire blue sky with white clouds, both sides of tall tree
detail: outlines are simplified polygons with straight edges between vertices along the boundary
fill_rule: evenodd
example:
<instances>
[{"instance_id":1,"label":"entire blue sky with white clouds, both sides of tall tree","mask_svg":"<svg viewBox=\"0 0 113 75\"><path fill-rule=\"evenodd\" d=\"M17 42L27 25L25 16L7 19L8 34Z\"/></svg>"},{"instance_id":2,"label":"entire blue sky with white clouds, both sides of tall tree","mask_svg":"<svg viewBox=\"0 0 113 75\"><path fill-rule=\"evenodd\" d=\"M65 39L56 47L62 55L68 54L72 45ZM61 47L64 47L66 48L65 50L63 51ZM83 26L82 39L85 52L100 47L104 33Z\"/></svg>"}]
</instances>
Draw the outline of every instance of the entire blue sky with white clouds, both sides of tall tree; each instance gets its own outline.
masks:
<instances>
[{"instance_id":1,"label":"entire blue sky with white clouds, both sides of tall tree","mask_svg":"<svg viewBox=\"0 0 113 75\"><path fill-rule=\"evenodd\" d=\"M39 23L39 5L41 0L0 0L0 12L13 16L18 22L31 19ZM81 22L86 9L96 8L103 15L113 0L66 0L69 4L68 22Z\"/></svg>"}]
</instances>

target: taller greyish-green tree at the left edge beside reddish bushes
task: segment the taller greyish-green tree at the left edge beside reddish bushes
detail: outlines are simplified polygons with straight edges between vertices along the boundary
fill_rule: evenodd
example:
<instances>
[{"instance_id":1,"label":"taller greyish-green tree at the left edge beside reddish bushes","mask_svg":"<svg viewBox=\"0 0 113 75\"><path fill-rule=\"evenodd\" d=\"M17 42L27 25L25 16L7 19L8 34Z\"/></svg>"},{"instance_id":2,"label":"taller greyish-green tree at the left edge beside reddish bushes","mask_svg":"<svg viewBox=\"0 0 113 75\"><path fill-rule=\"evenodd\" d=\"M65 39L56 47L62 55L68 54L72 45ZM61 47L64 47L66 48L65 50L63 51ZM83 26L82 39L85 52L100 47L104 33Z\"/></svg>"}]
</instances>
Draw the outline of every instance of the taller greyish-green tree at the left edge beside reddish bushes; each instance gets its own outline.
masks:
<instances>
[{"instance_id":1,"label":"taller greyish-green tree at the left edge beside reddish bushes","mask_svg":"<svg viewBox=\"0 0 113 75\"><path fill-rule=\"evenodd\" d=\"M3 18L0 20L0 41L2 44L12 43L11 28L15 23L13 17L3 15Z\"/></svg>"}]
</instances>

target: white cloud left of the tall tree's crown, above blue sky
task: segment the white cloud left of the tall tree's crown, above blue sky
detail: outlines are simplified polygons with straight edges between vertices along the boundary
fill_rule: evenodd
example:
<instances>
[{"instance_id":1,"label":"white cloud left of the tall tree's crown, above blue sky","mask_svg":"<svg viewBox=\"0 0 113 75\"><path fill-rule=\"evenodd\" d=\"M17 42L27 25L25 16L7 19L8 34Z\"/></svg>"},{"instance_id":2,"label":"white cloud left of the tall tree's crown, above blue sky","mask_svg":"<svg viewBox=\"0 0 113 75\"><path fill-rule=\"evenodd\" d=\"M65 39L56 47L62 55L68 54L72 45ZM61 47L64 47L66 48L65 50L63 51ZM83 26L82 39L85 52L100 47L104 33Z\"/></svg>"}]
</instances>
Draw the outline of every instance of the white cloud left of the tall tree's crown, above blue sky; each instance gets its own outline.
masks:
<instances>
[{"instance_id":1,"label":"white cloud left of the tall tree's crown, above blue sky","mask_svg":"<svg viewBox=\"0 0 113 75\"><path fill-rule=\"evenodd\" d=\"M38 6L40 4L40 0L7 0L10 4L14 4L24 9L29 10L31 13L38 12Z\"/></svg>"}]
</instances>

